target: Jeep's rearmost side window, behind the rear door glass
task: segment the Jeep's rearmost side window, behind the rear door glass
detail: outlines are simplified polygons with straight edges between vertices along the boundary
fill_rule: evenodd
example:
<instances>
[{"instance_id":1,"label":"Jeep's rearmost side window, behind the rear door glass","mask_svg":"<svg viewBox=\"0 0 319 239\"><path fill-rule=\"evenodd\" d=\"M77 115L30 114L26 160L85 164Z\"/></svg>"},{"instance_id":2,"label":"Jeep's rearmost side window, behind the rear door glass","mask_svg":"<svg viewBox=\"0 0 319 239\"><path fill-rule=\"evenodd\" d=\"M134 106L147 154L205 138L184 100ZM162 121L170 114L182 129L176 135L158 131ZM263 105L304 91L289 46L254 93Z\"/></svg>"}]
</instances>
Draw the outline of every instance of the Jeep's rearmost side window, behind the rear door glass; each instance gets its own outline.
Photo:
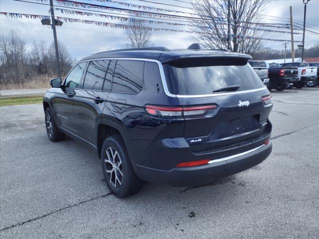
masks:
<instances>
[{"instance_id":1,"label":"Jeep's rearmost side window, behind the rear door glass","mask_svg":"<svg viewBox=\"0 0 319 239\"><path fill-rule=\"evenodd\" d=\"M143 88L143 61L118 60L115 66L112 91L139 93Z\"/></svg>"}]
</instances>

